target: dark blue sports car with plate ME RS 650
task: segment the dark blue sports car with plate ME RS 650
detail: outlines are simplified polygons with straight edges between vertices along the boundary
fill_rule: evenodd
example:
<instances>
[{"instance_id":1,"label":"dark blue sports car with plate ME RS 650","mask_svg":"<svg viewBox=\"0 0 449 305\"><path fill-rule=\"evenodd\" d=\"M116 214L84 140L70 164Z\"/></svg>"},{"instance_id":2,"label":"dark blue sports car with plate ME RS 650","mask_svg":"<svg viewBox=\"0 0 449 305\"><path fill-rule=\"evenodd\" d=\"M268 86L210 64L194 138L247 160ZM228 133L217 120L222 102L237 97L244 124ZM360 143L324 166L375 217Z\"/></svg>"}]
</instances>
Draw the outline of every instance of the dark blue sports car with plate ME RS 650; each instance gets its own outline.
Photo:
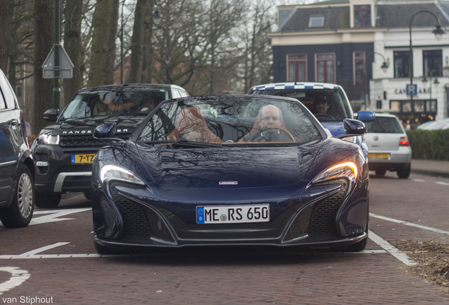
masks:
<instances>
[{"instance_id":1,"label":"dark blue sports car with plate ME RS 650","mask_svg":"<svg viewBox=\"0 0 449 305\"><path fill-rule=\"evenodd\" d=\"M95 130L114 138L114 124ZM366 133L345 119L345 134ZM369 170L301 102L268 95L162 102L92 169L95 247L330 246L361 251Z\"/></svg>"}]
</instances>

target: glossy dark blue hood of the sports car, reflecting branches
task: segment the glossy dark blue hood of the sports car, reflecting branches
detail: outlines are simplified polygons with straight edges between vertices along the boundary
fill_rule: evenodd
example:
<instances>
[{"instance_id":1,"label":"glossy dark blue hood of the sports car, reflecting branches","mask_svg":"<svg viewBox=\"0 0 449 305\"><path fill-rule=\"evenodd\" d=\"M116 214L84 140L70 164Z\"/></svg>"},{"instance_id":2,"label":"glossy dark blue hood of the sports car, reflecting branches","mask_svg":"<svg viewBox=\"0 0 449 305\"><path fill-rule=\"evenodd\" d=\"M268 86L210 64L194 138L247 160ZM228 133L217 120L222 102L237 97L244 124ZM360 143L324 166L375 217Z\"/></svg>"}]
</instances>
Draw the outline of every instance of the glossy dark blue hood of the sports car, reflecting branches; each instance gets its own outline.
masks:
<instances>
[{"instance_id":1,"label":"glossy dark blue hood of the sports car, reflecting branches","mask_svg":"<svg viewBox=\"0 0 449 305\"><path fill-rule=\"evenodd\" d=\"M319 143L308 148L251 149L167 149L160 145L139 145L138 154L148 185L164 189L240 189L297 184L313 164L318 150Z\"/></svg>"}]
</instances>

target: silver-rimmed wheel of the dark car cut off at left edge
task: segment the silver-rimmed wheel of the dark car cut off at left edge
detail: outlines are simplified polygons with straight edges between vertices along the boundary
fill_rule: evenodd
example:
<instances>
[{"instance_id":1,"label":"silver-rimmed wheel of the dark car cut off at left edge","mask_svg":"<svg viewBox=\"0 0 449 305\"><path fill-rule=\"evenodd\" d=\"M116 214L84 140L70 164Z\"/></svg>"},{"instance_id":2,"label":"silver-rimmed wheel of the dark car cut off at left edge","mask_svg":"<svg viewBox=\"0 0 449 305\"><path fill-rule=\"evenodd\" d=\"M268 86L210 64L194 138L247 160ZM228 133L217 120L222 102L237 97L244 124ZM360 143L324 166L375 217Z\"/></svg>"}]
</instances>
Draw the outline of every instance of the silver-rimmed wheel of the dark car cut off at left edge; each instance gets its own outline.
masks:
<instances>
[{"instance_id":1,"label":"silver-rimmed wheel of the dark car cut off at left edge","mask_svg":"<svg viewBox=\"0 0 449 305\"><path fill-rule=\"evenodd\" d=\"M0 220L5 227L26 227L31 221L34 210L34 187L30 169L23 165L20 170L16 193L13 202L4 210L0 210Z\"/></svg>"}]
</instances>

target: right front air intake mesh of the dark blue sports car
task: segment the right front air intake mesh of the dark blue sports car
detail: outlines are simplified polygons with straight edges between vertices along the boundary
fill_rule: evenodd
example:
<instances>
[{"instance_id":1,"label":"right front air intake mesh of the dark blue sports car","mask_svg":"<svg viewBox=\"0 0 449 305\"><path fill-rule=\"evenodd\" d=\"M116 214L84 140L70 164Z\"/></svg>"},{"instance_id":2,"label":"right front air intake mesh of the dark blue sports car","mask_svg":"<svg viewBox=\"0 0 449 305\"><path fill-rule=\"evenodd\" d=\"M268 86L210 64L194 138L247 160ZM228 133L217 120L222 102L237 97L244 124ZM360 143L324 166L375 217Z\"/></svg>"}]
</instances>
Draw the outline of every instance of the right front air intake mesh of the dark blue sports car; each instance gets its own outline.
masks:
<instances>
[{"instance_id":1,"label":"right front air intake mesh of the dark blue sports car","mask_svg":"<svg viewBox=\"0 0 449 305\"><path fill-rule=\"evenodd\" d=\"M316 206L309 224L309 235L336 234L335 216L345 199L349 186L346 179L327 181L323 184L342 184L342 187L338 193L326 198Z\"/></svg>"}]
</instances>

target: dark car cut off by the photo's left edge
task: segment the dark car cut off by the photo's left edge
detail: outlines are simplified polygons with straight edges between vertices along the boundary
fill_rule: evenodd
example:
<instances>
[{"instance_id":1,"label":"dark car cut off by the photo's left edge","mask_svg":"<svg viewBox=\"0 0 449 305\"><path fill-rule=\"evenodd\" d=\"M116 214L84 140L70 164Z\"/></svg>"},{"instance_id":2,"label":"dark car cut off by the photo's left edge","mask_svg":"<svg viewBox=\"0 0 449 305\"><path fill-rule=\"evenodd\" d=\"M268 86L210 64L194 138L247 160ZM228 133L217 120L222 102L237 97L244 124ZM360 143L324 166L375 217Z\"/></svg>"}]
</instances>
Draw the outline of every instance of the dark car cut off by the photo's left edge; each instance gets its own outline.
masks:
<instances>
[{"instance_id":1,"label":"dark car cut off by the photo's left edge","mask_svg":"<svg viewBox=\"0 0 449 305\"><path fill-rule=\"evenodd\" d=\"M25 116L0 69L0 220L26 227L34 210L34 165L25 136Z\"/></svg>"}]
</instances>

